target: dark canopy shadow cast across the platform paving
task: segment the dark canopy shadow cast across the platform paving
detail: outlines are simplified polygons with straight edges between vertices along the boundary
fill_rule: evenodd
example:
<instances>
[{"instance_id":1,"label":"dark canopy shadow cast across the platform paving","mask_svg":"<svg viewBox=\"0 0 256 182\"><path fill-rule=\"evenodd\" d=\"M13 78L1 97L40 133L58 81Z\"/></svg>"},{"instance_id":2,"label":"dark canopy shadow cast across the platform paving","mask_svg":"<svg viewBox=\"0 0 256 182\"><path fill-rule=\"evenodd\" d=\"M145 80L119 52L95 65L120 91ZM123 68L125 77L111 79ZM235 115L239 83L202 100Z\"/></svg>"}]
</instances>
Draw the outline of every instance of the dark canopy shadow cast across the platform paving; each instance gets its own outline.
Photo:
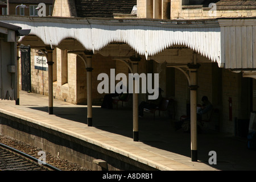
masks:
<instances>
[{"instance_id":1,"label":"dark canopy shadow cast across the platform paving","mask_svg":"<svg viewBox=\"0 0 256 182\"><path fill-rule=\"evenodd\" d=\"M31 109L45 111L48 107L30 107ZM133 113L129 108L101 109L93 107L93 127L133 138ZM53 114L57 117L87 124L87 108L80 107L54 107ZM156 114L154 121L151 113L145 113L139 118L139 142L164 151L191 157L190 134L184 131L175 131L172 119L159 117ZM256 151L247 149L247 139L233 137L230 134L205 130L198 134L199 162L208 164L209 152L216 151L217 164L213 167L219 170L256 170ZM210 165L211 166L211 165Z\"/></svg>"}]
</instances>

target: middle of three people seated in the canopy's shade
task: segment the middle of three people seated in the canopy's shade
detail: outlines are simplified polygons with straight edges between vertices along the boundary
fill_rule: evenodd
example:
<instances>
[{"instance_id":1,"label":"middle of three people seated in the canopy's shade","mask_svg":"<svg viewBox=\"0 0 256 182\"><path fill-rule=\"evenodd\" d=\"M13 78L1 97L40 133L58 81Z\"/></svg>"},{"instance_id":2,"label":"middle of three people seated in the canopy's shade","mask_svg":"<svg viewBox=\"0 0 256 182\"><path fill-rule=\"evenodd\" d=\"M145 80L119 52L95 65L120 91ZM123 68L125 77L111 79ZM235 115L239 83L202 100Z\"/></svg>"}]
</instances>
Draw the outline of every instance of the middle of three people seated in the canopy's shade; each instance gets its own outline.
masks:
<instances>
[{"instance_id":1,"label":"middle of three people seated in the canopy's shade","mask_svg":"<svg viewBox=\"0 0 256 182\"><path fill-rule=\"evenodd\" d=\"M159 88L159 96L156 100L150 100L148 102L142 101L141 104L139 104L139 117L143 117L143 111L145 109L155 109L156 107L159 107L160 102L162 101L162 92L163 90Z\"/></svg>"}]
</instances>

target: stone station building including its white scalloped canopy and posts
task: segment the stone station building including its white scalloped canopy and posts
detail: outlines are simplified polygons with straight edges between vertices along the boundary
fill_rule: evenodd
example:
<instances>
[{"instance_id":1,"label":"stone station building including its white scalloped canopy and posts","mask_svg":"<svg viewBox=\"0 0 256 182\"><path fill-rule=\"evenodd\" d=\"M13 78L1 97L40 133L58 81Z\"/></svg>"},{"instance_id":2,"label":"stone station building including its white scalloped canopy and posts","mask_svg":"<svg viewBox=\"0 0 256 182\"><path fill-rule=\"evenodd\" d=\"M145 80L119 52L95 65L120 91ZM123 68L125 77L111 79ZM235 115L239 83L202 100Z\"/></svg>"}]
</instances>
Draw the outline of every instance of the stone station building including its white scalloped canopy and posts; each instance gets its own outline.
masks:
<instances>
[{"instance_id":1,"label":"stone station building including its white scalloped canopy and posts","mask_svg":"<svg viewBox=\"0 0 256 182\"><path fill-rule=\"evenodd\" d=\"M193 156L203 96L219 111L211 129L246 135L256 107L255 16L255 1L56 0L52 16L1 19L31 29L19 41L20 89L48 95L49 109L52 98L88 105L88 125L104 97L100 73L158 73L163 97L175 101L164 117L191 115ZM147 95L133 93L124 105L133 108L135 135Z\"/></svg>"}]
</instances>

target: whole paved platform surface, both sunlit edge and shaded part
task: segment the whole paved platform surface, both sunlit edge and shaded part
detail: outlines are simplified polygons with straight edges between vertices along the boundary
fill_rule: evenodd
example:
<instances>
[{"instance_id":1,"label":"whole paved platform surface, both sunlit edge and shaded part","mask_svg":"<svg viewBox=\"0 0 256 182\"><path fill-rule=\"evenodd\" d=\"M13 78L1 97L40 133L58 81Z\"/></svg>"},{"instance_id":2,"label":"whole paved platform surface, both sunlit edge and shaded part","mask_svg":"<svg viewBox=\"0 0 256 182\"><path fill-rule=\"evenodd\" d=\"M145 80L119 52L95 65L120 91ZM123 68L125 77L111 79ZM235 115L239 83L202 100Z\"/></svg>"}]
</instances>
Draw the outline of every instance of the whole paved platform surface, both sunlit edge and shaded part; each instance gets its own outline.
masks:
<instances>
[{"instance_id":1,"label":"whole paved platform surface, both sunlit edge and shaded part","mask_svg":"<svg viewBox=\"0 0 256 182\"><path fill-rule=\"evenodd\" d=\"M139 119L139 142L133 141L130 108L108 110L93 106L93 126L86 121L86 105L53 100L48 114L48 97L20 92L20 105L0 101L0 111L78 137L160 170L233 171L255 170L256 151L246 148L246 138L205 130L198 135L198 162L191 162L190 134L175 131L173 121L151 113ZM210 165L209 152L216 151L217 164Z\"/></svg>"}]
</instances>

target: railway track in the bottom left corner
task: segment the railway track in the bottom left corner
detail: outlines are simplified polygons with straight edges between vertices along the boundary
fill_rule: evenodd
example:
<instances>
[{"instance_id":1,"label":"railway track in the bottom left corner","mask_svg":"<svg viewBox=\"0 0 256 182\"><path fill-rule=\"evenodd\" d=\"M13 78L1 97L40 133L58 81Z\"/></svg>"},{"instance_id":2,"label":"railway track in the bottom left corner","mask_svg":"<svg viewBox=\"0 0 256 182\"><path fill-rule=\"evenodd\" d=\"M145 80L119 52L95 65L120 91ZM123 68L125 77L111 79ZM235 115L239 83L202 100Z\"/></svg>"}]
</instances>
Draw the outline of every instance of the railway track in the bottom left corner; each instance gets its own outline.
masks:
<instances>
[{"instance_id":1,"label":"railway track in the bottom left corner","mask_svg":"<svg viewBox=\"0 0 256 182\"><path fill-rule=\"evenodd\" d=\"M0 171L60 171L47 163L0 143Z\"/></svg>"}]
</instances>

